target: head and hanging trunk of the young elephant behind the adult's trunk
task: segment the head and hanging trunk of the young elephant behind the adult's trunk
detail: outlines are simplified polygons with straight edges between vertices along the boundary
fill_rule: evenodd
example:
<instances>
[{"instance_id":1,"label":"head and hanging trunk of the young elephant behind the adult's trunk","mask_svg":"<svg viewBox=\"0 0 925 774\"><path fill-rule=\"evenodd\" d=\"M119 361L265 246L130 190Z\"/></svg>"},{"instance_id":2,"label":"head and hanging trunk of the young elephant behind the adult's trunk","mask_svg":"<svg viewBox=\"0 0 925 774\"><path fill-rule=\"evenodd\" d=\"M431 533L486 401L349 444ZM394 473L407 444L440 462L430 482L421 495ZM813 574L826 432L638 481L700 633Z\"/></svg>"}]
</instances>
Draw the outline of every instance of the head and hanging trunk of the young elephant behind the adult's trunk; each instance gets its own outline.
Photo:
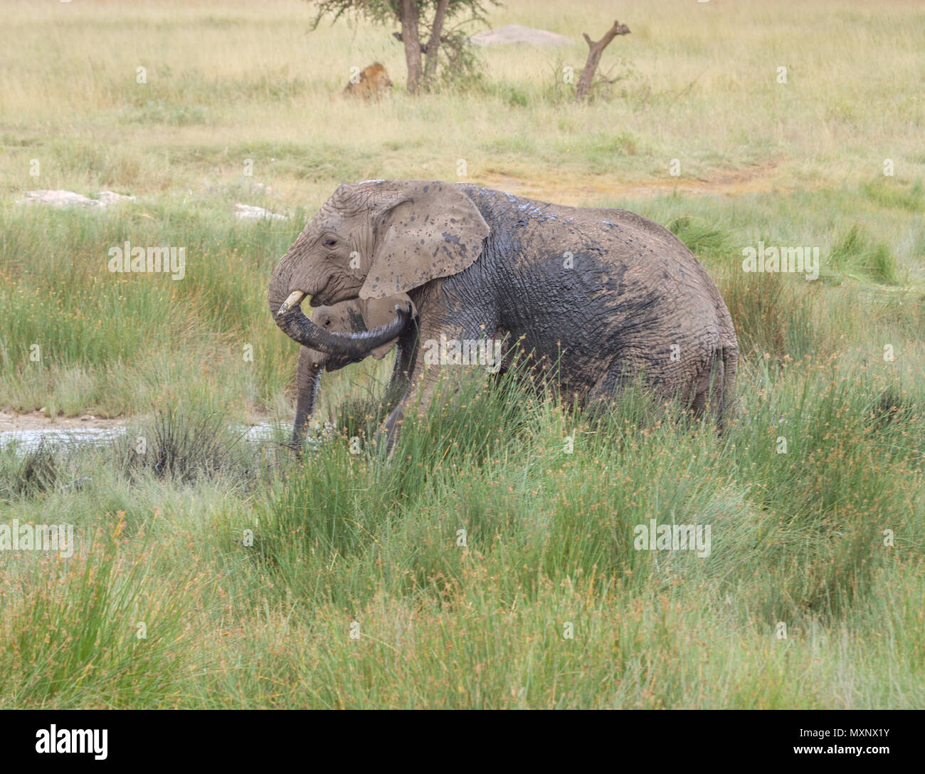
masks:
<instances>
[{"instance_id":1,"label":"head and hanging trunk of the young elephant behind the adult's trunk","mask_svg":"<svg viewBox=\"0 0 925 774\"><path fill-rule=\"evenodd\" d=\"M376 329L386 329L394 324L396 309L404 305L413 304L405 293L396 293L386 298L371 298L367 300L354 298L343 301L334 306L318 306L312 311L313 325L329 333L362 333ZM388 355L396 339L376 347L369 354L381 360ZM305 432L305 423L314 412L314 404L318 397L318 387L321 383L323 371L335 371L351 363L359 362L363 356L347 356L334 354L322 350L303 346L299 352L299 366L296 370L296 386L298 398L296 401L295 425L292 430L292 443L301 445Z\"/></svg>"}]
</instances>

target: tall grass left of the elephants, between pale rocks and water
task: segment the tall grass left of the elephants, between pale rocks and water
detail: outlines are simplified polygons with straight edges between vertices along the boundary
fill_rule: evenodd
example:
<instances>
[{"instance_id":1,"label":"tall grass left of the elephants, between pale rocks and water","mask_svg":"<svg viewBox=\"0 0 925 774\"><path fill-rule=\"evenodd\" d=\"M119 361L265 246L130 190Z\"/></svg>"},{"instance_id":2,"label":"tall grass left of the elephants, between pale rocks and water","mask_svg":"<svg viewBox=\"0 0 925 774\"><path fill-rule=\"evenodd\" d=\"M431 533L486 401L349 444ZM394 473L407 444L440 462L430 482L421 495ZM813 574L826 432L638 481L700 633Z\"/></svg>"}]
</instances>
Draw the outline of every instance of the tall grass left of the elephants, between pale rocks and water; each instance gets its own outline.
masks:
<instances>
[{"instance_id":1,"label":"tall grass left of the elephants, between pale rocks and water","mask_svg":"<svg viewBox=\"0 0 925 774\"><path fill-rule=\"evenodd\" d=\"M0 208L0 231L5 406L117 415L211 393L257 407L290 379L295 353L265 324L265 284L299 226L236 225L176 202L113 214ZM127 241L185 247L185 276L110 272L109 249Z\"/></svg>"}]
</instances>

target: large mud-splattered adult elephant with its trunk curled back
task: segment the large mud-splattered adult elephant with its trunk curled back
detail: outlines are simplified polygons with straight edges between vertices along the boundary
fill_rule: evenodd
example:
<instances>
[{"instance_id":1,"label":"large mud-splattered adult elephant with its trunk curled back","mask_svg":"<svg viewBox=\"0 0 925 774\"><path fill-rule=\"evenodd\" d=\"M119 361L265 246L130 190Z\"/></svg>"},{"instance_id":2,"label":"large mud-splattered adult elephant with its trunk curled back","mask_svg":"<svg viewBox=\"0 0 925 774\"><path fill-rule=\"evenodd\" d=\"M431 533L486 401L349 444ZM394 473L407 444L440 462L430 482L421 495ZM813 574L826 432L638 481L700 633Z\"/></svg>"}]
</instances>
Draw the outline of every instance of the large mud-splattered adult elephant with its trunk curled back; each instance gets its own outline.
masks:
<instances>
[{"instance_id":1,"label":"large mud-splattered adult elephant with its trunk curled back","mask_svg":"<svg viewBox=\"0 0 925 774\"><path fill-rule=\"evenodd\" d=\"M318 341L312 306L407 293L420 342L508 331L536 371L559 362L561 392L610 400L641 376L722 424L734 407L738 345L716 285L670 231L621 209L570 207L465 183L365 181L342 185L279 261L269 302L295 341L361 356L394 338ZM399 310L399 330L410 310ZM403 314L401 314L403 313ZM407 317L407 318L405 318ZM319 329L320 330L320 329ZM388 338L383 338L391 333ZM412 357L408 389L386 420L389 447L417 388L425 405L439 373L460 367ZM561 359L560 359L561 356Z\"/></svg>"}]
</instances>

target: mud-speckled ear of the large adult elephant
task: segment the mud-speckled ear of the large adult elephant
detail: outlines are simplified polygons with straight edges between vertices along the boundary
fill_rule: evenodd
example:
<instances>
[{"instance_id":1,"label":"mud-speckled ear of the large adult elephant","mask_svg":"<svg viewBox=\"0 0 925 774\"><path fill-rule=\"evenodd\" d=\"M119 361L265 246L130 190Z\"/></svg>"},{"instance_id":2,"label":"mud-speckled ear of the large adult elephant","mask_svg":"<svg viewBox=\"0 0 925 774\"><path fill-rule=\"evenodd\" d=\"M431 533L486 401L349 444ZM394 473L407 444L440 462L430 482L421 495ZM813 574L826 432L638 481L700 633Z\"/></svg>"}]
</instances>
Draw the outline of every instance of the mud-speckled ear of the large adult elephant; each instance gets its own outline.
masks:
<instances>
[{"instance_id":1,"label":"mud-speckled ear of the large adult elephant","mask_svg":"<svg viewBox=\"0 0 925 774\"><path fill-rule=\"evenodd\" d=\"M458 274L481 255L488 224L452 183L402 181L376 198L373 260L360 298L407 293Z\"/></svg>"}]
</instances>

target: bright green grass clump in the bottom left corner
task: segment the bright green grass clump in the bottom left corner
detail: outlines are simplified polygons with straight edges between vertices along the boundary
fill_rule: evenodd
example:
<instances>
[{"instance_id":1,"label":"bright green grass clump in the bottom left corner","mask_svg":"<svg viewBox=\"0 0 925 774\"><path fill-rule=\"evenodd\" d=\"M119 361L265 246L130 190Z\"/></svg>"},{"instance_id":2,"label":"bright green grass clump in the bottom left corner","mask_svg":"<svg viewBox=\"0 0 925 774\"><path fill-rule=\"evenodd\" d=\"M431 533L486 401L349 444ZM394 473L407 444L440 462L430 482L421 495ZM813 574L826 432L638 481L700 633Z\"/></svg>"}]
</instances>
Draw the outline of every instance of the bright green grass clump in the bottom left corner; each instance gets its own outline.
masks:
<instances>
[{"instance_id":1,"label":"bright green grass clump in the bottom left corner","mask_svg":"<svg viewBox=\"0 0 925 774\"><path fill-rule=\"evenodd\" d=\"M162 705L191 669L183 597L195 568L165 583L154 545L127 556L121 527L80 535L68 560L19 559L0 624L7 706Z\"/></svg>"}]
</instances>

